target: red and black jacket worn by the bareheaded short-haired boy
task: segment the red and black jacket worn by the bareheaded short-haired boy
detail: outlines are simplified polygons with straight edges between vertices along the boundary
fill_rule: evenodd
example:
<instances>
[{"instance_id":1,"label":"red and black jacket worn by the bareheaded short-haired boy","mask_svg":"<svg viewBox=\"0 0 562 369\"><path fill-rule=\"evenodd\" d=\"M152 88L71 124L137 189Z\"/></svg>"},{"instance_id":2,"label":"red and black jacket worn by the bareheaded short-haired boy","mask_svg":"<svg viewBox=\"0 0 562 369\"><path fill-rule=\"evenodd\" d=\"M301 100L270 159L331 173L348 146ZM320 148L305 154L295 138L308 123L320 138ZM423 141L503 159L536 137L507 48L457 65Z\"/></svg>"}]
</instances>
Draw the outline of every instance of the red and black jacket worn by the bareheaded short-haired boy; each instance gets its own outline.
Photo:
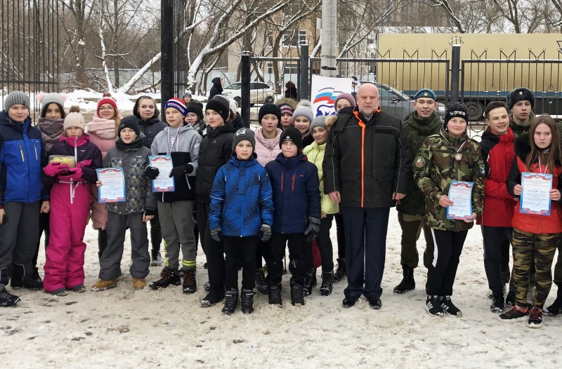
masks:
<instances>
[{"instance_id":1,"label":"red and black jacket worn by the bareheaded short-haired boy","mask_svg":"<svg viewBox=\"0 0 562 369\"><path fill-rule=\"evenodd\" d=\"M484 209L477 224L487 227L511 227L516 201L507 191L506 180L514 161L515 135L508 128L505 135L495 135L490 128L482 135L482 157L486 167Z\"/></svg>"}]
</instances>

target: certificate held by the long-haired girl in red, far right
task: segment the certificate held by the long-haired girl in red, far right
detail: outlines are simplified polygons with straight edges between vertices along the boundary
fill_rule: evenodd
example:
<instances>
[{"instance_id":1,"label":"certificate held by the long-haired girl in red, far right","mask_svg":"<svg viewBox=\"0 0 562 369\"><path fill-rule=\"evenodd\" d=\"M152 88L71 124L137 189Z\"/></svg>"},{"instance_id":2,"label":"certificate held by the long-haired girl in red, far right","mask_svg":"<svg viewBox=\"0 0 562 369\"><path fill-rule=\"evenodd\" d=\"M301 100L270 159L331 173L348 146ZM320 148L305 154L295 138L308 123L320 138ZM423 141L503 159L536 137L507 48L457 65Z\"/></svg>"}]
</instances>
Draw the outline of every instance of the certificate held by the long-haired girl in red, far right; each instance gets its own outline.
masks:
<instances>
[{"instance_id":1,"label":"certificate held by the long-haired girl in red, far right","mask_svg":"<svg viewBox=\"0 0 562 369\"><path fill-rule=\"evenodd\" d=\"M521 187L523 191L519 200L520 213L550 215L551 174L523 172Z\"/></svg>"}]
</instances>

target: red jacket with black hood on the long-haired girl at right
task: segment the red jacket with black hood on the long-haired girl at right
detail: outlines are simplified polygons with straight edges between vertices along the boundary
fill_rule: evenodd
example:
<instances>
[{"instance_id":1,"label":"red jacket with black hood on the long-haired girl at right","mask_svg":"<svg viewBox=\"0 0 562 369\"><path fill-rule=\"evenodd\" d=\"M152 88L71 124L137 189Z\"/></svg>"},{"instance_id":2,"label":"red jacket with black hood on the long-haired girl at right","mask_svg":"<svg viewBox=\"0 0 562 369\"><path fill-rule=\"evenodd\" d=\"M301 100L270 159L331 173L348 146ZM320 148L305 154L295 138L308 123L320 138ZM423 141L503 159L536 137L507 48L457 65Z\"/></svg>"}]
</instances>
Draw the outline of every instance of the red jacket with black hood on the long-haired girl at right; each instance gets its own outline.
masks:
<instances>
[{"instance_id":1,"label":"red jacket with black hood on the long-haired girl at right","mask_svg":"<svg viewBox=\"0 0 562 369\"><path fill-rule=\"evenodd\" d=\"M525 158L530 152L529 135L525 133L519 136L515 143L516 159L511 166L511 172L507 178L507 189L511 195L514 195L514 187L521 185L521 173L532 172L539 173L547 169L544 164L540 170L538 163L533 163L532 168L528 170L525 166ZM562 167L559 161L556 161L554 171L547 170L547 173L552 174L552 188L561 189L562 180ZM521 214L519 213L519 201L515 206L514 217L511 220L511 226L523 232L531 232L534 234L554 234L562 232L562 206L559 201L551 201L550 215L534 215L534 214Z\"/></svg>"}]
</instances>

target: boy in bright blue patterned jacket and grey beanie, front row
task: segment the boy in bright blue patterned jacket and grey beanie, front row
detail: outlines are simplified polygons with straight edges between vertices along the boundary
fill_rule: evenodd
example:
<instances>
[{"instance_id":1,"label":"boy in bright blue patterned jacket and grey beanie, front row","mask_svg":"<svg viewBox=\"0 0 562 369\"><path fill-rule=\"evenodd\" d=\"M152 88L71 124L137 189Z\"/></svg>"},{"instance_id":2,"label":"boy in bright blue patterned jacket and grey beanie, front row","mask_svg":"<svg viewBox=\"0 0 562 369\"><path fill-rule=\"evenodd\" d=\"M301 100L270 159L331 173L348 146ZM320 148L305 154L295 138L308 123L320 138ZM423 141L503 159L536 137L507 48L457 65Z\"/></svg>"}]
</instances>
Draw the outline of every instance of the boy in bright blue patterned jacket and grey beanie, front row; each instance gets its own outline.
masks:
<instances>
[{"instance_id":1,"label":"boy in bright blue patterned jacket and grey beanie, front row","mask_svg":"<svg viewBox=\"0 0 562 369\"><path fill-rule=\"evenodd\" d=\"M224 239L225 302L223 313L238 304L237 263L242 262L242 312L254 311L254 280L258 241L271 236L273 201L268 173L256 160L256 140L249 128L233 137L233 157L216 173L209 205L209 229L215 241Z\"/></svg>"}]
</instances>

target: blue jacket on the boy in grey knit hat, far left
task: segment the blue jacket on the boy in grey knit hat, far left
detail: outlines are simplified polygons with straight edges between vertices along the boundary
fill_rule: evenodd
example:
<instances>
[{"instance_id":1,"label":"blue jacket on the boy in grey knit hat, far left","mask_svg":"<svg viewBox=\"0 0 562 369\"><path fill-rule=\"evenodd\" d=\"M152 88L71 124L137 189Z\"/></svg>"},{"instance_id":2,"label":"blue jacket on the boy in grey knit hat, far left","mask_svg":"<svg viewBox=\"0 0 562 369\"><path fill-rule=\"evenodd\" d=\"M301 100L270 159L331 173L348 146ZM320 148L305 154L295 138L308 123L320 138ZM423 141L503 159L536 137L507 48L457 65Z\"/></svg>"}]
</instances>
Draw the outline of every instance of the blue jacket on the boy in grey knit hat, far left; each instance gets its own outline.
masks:
<instances>
[{"instance_id":1,"label":"blue jacket on the boy in grey knit hat, far left","mask_svg":"<svg viewBox=\"0 0 562 369\"><path fill-rule=\"evenodd\" d=\"M0 112L0 207L10 201L34 203L43 195L41 167L46 164L41 132L31 125L12 121Z\"/></svg>"}]
</instances>

